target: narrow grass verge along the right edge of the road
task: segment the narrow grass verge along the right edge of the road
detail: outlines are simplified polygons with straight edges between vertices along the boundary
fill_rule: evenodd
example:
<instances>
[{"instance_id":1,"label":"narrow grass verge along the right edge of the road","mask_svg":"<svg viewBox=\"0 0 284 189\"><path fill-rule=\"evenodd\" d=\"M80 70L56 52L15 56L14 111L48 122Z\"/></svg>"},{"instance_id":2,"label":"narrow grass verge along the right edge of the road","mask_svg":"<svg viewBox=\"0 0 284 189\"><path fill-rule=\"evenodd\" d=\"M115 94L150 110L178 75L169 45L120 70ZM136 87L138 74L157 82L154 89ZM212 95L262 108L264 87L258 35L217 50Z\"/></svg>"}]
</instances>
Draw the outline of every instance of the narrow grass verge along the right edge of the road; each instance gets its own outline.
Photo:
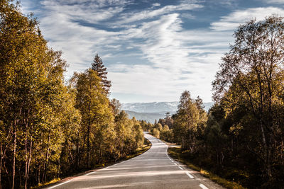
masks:
<instances>
[{"instance_id":1,"label":"narrow grass verge along the right edge of the road","mask_svg":"<svg viewBox=\"0 0 284 189\"><path fill-rule=\"evenodd\" d=\"M187 165L189 168L192 168L195 171L199 171L202 176L205 176L212 181L218 183L219 185L224 186L225 188L229 189L243 189L244 187L242 185L239 185L239 183L233 182L233 181L227 181L224 178L221 178L220 176L217 176L214 173L211 173L207 170L204 170L203 168L196 166L195 164L192 164L190 161L188 161L184 156L182 156L182 150L180 147L170 147L168 148L168 154L173 158L176 159L182 164Z\"/></svg>"}]
</instances>

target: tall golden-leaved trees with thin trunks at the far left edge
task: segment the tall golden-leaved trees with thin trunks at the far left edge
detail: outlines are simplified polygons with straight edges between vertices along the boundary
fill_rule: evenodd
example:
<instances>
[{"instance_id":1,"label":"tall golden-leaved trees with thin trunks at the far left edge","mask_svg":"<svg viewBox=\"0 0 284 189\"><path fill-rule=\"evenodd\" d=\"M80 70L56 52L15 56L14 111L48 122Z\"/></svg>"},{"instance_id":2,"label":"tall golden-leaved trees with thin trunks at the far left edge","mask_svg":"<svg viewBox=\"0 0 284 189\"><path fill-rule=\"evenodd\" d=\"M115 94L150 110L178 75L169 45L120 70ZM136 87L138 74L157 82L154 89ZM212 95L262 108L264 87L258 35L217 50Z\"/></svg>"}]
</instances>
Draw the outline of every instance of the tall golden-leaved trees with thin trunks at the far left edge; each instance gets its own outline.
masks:
<instances>
[{"instance_id":1,"label":"tall golden-leaved trees with thin trunks at the far left edge","mask_svg":"<svg viewBox=\"0 0 284 189\"><path fill-rule=\"evenodd\" d=\"M0 173L6 170L5 188L27 188L60 173L64 126L76 127L68 119L80 115L64 111L71 98L63 83L66 62L48 48L37 21L11 1L1 1L0 13Z\"/></svg>"}]
</instances>

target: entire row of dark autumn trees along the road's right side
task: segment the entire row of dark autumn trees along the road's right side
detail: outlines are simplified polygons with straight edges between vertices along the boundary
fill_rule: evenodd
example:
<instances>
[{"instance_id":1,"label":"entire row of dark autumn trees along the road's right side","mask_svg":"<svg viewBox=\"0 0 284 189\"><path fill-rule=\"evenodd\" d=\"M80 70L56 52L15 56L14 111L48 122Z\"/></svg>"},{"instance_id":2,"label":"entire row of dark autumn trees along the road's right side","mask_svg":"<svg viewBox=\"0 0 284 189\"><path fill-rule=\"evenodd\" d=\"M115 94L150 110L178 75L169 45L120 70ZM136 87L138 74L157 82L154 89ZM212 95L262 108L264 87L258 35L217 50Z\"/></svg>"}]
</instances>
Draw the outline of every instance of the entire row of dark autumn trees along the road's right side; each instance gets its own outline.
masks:
<instances>
[{"instance_id":1,"label":"entire row of dark autumn trees along the road's right side","mask_svg":"<svg viewBox=\"0 0 284 189\"><path fill-rule=\"evenodd\" d=\"M200 98L182 93L169 140L190 161L247 188L283 188L283 18L249 21L234 38L212 82L214 106L205 113Z\"/></svg>"}]
</instances>

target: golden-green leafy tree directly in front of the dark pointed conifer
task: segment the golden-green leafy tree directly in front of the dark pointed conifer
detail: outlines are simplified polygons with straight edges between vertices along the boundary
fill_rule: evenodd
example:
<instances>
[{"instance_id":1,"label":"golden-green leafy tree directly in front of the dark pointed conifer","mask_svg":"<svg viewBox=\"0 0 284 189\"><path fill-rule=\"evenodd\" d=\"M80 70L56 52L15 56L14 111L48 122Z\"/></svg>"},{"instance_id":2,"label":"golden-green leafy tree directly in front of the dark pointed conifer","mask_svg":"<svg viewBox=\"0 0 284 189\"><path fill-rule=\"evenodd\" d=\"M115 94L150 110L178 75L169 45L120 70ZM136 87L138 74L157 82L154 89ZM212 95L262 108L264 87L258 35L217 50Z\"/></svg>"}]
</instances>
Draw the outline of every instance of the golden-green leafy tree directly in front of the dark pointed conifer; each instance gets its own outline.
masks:
<instances>
[{"instance_id":1,"label":"golden-green leafy tree directly in front of the dark pointed conifer","mask_svg":"<svg viewBox=\"0 0 284 189\"><path fill-rule=\"evenodd\" d=\"M84 73L75 74L77 81L76 108L82 115L80 134L82 151L87 156L80 156L86 159L87 167L99 163L104 153L111 153L114 147L109 144L114 138L114 116L109 106L109 99L102 88L101 79L92 69ZM92 165L91 165L92 164Z\"/></svg>"}]
</instances>

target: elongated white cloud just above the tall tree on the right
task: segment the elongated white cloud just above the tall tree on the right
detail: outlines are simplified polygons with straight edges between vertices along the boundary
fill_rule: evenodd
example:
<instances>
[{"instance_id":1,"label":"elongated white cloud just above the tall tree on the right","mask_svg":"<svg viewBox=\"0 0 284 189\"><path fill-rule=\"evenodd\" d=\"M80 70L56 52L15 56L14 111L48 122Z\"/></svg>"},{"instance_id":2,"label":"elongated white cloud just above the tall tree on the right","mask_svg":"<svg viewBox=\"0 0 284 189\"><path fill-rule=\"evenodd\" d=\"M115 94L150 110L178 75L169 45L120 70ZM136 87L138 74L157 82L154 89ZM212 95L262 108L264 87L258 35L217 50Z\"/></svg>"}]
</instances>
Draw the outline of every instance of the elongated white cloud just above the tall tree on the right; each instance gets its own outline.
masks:
<instances>
[{"instance_id":1,"label":"elongated white cloud just above the tall tree on the right","mask_svg":"<svg viewBox=\"0 0 284 189\"><path fill-rule=\"evenodd\" d=\"M256 21L262 21L267 16L273 14L283 16L283 8L275 7L260 7L260 8L248 8L246 10L237 10L230 13L228 16L222 16L220 21L211 24L213 30L236 30L236 28L246 21L256 19Z\"/></svg>"}]
</instances>

